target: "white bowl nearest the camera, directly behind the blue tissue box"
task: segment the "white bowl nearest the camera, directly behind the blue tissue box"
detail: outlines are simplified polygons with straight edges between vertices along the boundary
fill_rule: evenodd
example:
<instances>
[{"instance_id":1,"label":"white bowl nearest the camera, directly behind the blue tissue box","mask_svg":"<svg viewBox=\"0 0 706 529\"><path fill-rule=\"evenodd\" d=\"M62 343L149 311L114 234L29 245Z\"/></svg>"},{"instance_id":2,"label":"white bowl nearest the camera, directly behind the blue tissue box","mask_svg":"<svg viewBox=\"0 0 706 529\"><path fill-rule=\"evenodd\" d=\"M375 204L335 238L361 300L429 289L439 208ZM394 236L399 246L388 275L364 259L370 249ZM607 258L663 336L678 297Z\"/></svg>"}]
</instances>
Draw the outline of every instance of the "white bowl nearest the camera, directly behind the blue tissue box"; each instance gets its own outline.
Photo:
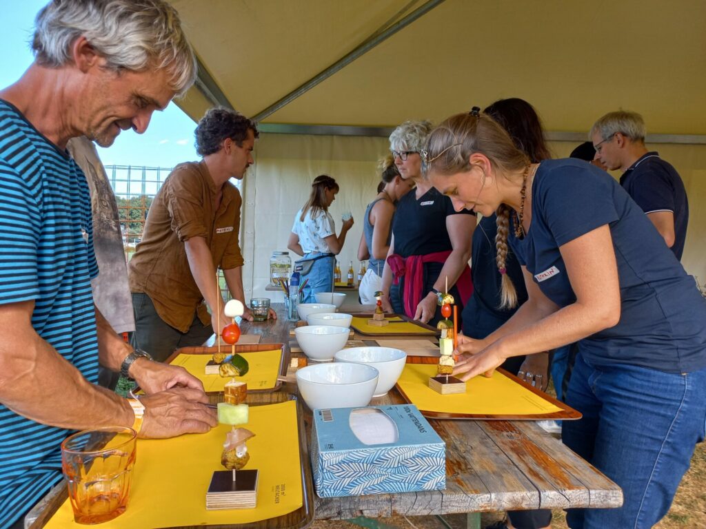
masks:
<instances>
[{"instance_id":1,"label":"white bowl nearest the camera, directly behind the blue tissue box","mask_svg":"<svg viewBox=\"0 0 706 529\"><path fill-rule=\"evenodd\" d=\"M365 364L314 364L297 370L297 386L311 408L368 406L378 384L378 370Z\"/></svg>"}]
</instances>

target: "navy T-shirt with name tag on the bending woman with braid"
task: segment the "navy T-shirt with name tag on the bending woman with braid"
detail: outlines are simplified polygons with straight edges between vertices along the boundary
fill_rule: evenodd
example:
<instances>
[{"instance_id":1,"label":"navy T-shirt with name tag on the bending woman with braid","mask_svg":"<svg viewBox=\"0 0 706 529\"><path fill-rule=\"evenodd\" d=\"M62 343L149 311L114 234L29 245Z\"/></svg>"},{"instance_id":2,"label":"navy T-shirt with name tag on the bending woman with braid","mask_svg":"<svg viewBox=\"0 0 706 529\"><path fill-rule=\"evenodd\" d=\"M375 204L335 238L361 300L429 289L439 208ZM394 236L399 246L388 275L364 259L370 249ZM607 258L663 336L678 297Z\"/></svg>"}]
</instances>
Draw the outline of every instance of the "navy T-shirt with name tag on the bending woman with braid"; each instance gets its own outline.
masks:
<instances>
[{"instance_id":1,"label":"navy T-shirt with name tag on the bending woman with braid","mask_svg":"<svg viewBox=\"0 0 706 529\"><path fill-rule=\"evenodd\" d=\"M594 365L674 373L706 367L706 300L642 209L605 171L580 160L542 162L532 185L530 230L520 241L511 226L508 241L544 295L566 307L576 296L558 248L605 224L618 265L621 318L580 341L581 353Z\"/></svg>"}]
</instances>

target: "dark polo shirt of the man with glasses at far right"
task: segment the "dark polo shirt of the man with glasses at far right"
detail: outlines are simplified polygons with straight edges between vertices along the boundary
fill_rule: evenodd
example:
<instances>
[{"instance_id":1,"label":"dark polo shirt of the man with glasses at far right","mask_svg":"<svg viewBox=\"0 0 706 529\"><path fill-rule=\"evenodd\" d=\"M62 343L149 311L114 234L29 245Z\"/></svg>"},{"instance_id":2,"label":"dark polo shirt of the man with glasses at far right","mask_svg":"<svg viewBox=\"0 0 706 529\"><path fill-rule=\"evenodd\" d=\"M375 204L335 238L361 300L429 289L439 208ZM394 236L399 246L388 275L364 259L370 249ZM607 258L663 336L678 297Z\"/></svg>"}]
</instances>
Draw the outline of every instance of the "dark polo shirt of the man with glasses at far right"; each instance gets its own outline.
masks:
<instances>
[{"instance_id":1,"label":"dark polo shirt of the man with glasses at far right","mask_svg":"<svg viewBox=\"0 0 706 529\"><path fill-rule=\"evenodd\" d=\"M681 176L659 157L647 152L623 173L620 183L645 213L674 213L674 245L671 251L681 260L689 222L689 202Z\"/></svg>"}]
</instances>

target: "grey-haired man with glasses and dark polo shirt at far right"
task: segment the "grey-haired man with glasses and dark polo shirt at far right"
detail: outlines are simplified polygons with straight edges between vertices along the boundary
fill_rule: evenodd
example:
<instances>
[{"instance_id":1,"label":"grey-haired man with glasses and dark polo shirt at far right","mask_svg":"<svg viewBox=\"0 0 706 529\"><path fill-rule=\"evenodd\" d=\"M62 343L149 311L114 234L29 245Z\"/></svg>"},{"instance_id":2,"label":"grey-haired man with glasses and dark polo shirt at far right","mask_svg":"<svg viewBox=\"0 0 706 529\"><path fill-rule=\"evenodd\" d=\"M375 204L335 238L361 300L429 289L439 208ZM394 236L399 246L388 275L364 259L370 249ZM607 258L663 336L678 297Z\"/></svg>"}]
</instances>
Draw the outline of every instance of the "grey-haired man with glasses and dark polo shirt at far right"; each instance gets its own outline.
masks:
<instances>
[{"instance_id":1,"label":"grey-haired man with glasses and dark polo shirt at far right","mask_svg":"<svg viewBox=\"0 0 706 529\"><path fill-rule=\"evenodd\" d=\"M689 203L681 176L656 151L645 147L645 121L636 112L609 112L591 128L599 159L611 171L623 171L620 183L652 221L681 260L689 221Z\"/></svg>"}]
</instances>

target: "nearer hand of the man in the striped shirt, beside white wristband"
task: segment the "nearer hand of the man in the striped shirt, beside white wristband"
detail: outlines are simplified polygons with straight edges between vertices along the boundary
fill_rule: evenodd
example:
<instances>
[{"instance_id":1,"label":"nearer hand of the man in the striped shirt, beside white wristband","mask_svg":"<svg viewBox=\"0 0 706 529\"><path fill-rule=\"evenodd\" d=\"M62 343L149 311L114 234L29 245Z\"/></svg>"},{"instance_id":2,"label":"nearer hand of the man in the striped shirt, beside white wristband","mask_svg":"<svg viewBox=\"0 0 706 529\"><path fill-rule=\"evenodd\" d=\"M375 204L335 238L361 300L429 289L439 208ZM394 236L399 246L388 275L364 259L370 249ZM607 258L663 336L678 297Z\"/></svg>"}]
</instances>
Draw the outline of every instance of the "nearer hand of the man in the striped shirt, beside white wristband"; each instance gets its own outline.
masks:
<instances>
[{"instance_id":1,"label":"nearer hand of the man in the striped shirt, beside white wristband","mask_svg":"<svg viewBox=\"0 0 706 529\"><path fill-rule=\"evenodd\" d=\"M205 433L218 424L215 410L205 406L203 391L172 388L143 396L145 418L139 437L165 439L188 433Z\"/></svg>"}]
</instances>

